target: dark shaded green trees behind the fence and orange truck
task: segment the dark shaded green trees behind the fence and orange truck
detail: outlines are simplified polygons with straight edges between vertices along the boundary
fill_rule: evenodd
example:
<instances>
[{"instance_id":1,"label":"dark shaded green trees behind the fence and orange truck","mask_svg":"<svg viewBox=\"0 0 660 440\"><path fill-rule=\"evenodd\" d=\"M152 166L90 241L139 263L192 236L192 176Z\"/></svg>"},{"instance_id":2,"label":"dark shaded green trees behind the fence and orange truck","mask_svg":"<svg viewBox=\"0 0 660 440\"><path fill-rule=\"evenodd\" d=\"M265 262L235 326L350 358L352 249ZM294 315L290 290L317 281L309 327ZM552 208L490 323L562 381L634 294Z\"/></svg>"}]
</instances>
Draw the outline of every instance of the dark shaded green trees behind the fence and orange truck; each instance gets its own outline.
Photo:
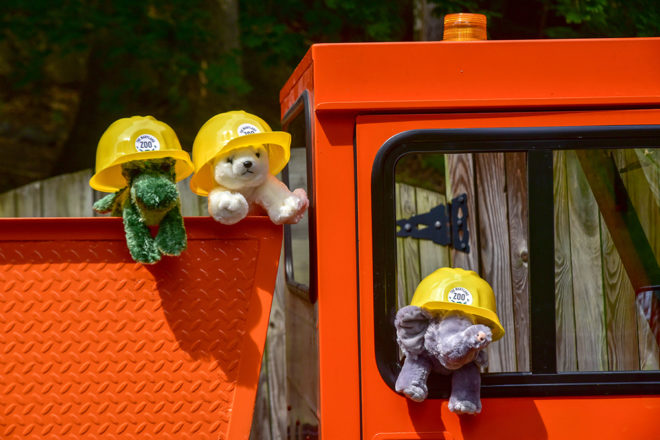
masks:
<instances>
[{"instance_id":1,"label":"dark shaded green trees behind the fence and orange truck","mask_svg":"<svg viewBox=\"0 0 660 440\"><path fill-rule=\"evenodd\" d=\"M416 1L4 0L0 119L44 128L34 147L55 150L53 173L92 166L123 116L167 121L186 149L225 110L276 128L279 90L310 45L411 40ZM491 39L660 35L657 0L426 1L438 16L486 14Z\"/></svg>"}]
</instances>

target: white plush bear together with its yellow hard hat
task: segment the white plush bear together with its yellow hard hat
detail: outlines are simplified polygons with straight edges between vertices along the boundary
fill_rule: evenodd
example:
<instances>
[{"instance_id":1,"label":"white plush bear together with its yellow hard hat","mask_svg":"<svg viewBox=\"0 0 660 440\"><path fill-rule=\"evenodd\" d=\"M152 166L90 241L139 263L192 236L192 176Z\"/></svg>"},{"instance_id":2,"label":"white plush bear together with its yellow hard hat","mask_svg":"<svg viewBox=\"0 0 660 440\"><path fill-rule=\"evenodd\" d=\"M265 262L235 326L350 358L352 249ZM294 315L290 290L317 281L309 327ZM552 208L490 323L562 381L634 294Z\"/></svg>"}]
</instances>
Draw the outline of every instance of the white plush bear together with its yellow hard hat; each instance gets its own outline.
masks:
<instances>
[{"instance_id":1,"label":"white plush bear together with its yellow hard hat","mask_svg":"<svg viewBox=\"0 0 660 440\"><path fill-rule=\"evenodd\" d=\"M243 111L209 119L193 143L193 192L208 196L209 214L231 225L267 214L276 224L297 223L309 206L303 189L289 191L275 175L289 160L291 136L271 131Z\"/></svg>"}]
</instances>

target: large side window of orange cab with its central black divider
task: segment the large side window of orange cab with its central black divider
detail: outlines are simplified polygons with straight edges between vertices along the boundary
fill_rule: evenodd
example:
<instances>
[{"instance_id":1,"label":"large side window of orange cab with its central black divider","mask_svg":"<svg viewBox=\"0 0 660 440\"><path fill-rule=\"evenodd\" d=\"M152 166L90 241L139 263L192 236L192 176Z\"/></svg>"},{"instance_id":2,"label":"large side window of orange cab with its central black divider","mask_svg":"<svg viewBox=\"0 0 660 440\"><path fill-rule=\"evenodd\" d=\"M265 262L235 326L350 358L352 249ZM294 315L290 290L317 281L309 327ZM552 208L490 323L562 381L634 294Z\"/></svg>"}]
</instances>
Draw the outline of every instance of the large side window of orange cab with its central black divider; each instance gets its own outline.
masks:
<instances>
[{"instance_id":1,"label":"large side window of orange cab with its central black divider","mask_svg":"<svg viewBox=\"0 0 660 440\"><path fill-rule=\"evenodd\" d=\"M382 322L435 269L476 271L493 287L506 330L488 348L486 389L519 383L520 373L527 384L561 374L575 387L578 372L631 384L648 379L644 372L657 379L660 149L650 138L585 141L575 133L570 142L539 132L509 145L425 133L389 157L392 226L378 231L374 222L394 255L382 262L395 276L375 269L375 299L387 297L376 300L389 315ZM395 342L390 350L398 365Z\"/></svg>"}]
</instances>

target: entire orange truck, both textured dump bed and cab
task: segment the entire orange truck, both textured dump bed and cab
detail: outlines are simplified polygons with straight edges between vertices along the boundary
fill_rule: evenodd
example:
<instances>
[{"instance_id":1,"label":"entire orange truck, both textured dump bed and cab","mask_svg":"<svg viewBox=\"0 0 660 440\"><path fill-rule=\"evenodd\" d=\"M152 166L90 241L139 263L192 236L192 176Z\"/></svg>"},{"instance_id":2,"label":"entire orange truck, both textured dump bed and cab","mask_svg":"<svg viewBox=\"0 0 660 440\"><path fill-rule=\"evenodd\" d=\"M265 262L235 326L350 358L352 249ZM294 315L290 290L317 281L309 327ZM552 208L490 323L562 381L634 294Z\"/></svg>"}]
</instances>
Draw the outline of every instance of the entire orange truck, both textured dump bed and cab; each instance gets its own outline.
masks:
<instances>
[{"instance_id":1,"label":"entire orange truck, both textured dump bed and cab","mask_svg":"<svg viewBox=\"0 0 660 440\"><path fill-rule=\"evenodd\" d=\"M280 102L311 201L285 262L318 310L320 438L660 438L658 54L311 47ZM0 437L248 438L282 228L185 221L156 265L120 219L0 221ZM506 332L478 415L440 375L421 403L394 389L394 315L442 266L489 282Z\"/></svg>"}]
</instances>

